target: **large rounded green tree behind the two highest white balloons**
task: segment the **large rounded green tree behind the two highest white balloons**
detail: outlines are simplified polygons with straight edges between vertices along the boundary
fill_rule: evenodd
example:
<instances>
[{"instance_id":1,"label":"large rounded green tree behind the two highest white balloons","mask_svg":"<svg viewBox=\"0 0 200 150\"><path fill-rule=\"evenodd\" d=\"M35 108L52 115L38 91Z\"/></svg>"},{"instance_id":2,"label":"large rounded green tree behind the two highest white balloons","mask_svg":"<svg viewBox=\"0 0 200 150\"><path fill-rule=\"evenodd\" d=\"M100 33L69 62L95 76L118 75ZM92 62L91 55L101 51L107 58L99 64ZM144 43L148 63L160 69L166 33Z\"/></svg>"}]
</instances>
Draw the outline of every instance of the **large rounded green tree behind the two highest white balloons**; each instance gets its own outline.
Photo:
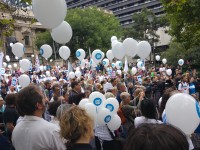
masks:
<instances>
[{"instance_id":1,"label":"large rounded green tree behind the two highest white balloons","mask_svg":"<svg viewBox=\"0 0 200 150\"><path fill-rule=\"evenodd\" d=\"M111 47L110 38L115 35L122 37L123 30L120 26L119 20L110 12L97 7L76 8L68 10L66 19L72 27L73 37L67 46L71 49L71 56L75 56L75 51L79 48L86 52L89 50L101 49L107 51ZM49 32L49 31L46 31ZM42 35L47 33L40 33L37 36L36 45L39 48L41 45ZM51 37L44 37L43 44L52 43Z\"/></svg>"}]
</instances>

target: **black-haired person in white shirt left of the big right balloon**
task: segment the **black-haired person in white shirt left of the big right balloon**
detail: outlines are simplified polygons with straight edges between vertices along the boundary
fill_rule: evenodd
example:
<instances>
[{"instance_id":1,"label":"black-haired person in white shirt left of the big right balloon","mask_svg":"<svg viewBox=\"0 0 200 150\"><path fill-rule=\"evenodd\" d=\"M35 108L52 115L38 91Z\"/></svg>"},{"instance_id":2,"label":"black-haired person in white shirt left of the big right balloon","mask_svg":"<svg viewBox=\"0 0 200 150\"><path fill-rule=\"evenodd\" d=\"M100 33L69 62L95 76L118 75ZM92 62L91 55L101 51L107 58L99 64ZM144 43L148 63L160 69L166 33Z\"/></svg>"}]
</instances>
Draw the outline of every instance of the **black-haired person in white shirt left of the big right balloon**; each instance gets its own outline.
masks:
<instances>
[{"instance_id":1,"label":"black-haired person in white shirt left of the big right balloon","mask_svg":"<svg viewBox=\"0 0 200 150\"><path fill-rule=\"evenodd\" d=\"M144 99L141 101L140 107L142 116L136 117L134 120L135 128L137 128L140 124L143 123L158 123L161 124L162 122L157 120L158 114L156 111L156 106L154 105L152 100Z\"/></svg>"}]
</instances>

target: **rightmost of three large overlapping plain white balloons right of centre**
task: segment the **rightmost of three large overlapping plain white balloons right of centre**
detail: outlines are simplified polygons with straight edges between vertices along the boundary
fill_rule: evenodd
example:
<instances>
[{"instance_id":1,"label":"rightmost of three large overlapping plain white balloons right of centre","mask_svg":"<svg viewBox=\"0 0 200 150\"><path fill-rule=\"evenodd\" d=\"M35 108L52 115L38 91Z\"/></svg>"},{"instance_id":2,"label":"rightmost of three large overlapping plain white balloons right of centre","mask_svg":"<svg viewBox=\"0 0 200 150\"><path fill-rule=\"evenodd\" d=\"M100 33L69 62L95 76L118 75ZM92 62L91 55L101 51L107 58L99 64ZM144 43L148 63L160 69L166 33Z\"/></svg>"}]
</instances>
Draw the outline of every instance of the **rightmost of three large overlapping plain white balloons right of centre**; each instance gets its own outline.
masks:
<instances>
[{"instance_id":1,"label":"rightmost of three large overlapping plain white balloons right of centre","mask_svg":"<svg viewBox=\"0 0 200 150\"><path fill-rule=\"evenodd\" d=\"M137 55L141 59L147 58L151 53L151 45L147 41L141 41L137 44Z\"/></svg>"}]
</instances>

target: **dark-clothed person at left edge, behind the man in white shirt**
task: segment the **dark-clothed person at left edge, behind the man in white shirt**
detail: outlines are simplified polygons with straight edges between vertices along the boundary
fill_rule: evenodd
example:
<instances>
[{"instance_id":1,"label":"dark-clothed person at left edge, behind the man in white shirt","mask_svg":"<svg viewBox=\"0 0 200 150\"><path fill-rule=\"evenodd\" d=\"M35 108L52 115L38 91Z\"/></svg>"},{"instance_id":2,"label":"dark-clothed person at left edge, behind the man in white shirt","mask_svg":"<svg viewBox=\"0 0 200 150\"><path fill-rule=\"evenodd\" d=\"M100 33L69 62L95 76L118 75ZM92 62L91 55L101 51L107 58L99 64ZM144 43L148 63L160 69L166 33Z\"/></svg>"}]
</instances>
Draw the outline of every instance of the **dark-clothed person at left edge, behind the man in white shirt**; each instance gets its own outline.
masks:
<instances>
[{"instance_id":1,"label":"dark-clothed person at left edge, behind the man in white shirt","mask_svg":"<svg viewBox=\"0 0 200 150\"><path fill-rule=\"evenodd\" d=\"M13 129L15 128L17 119L19 118L19 114L16 110L16 95L8 94L5 101L6 107L3 113L3 120L6 125L7 137L11 141Z\"/></svg>"}]
</instances>

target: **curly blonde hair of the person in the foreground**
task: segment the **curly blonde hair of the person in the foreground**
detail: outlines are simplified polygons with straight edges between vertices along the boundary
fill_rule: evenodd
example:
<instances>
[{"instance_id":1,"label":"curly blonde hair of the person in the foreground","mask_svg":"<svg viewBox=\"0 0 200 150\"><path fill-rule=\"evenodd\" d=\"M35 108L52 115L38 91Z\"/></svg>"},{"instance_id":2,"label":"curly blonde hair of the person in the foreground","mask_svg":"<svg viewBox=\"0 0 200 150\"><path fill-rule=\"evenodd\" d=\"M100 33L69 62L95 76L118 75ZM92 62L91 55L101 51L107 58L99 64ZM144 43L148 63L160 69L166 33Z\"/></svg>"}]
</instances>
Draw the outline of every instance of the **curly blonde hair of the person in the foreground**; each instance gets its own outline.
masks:
<instances>
[{"instance_id":1,"label":"curly blonde hair of the person in the foreground","mask_svg":"<svg viewBox=\"0 0 200 150\"><path fill-rule=\"evenodd\" d=\"M60 119L61 136L68 140L68 145L73 145L81 137L93 136L93 120L86 111L74 106L66 111Z\"/></svg>"}]
</instances>

